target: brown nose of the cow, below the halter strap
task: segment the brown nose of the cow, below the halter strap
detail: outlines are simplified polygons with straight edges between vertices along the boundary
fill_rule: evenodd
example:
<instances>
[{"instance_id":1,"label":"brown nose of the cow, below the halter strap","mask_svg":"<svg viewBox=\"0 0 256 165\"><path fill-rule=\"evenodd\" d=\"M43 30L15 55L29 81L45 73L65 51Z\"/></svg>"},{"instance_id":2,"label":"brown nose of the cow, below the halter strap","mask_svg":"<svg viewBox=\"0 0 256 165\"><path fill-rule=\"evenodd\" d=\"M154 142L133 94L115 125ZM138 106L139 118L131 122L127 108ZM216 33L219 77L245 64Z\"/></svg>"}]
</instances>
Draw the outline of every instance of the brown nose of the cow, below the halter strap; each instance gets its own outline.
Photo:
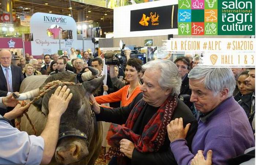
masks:
<instances>
[{"instance_id":1,"label":"brown nose of the cow, below the halter strap","mask_svg":"<svg viewBox=\"0 0 256 165\"><path fill-rule=\"evenodd\" d=\"M89 154L88 150L84 154L87 156ZM77 162L81 159L81 146L70 145L68 147L57 147L55 158L59 164L63 165Z\"/></svg>"}]
</instances>

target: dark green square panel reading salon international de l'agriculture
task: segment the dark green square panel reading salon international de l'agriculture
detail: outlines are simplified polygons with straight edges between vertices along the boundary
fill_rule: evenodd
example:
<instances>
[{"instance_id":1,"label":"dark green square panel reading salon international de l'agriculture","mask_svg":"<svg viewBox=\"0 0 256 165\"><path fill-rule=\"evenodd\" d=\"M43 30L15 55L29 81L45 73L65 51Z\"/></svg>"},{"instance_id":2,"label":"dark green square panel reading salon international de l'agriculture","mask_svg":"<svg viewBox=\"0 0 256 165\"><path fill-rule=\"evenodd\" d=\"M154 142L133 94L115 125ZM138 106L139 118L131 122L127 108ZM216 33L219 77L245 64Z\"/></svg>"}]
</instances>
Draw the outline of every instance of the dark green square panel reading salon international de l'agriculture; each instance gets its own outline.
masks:
<instances>
[{"instance_id":1,"label":"dark green square panel reading salon international de l'agriculture","mask_svg":"<svg viewBox=\"0 0 256 165\"><path fill-rule=\"evenodd\" d=\"M219 0L218 35L255 35L255 0Z\"/></svg>"}]
</instances>

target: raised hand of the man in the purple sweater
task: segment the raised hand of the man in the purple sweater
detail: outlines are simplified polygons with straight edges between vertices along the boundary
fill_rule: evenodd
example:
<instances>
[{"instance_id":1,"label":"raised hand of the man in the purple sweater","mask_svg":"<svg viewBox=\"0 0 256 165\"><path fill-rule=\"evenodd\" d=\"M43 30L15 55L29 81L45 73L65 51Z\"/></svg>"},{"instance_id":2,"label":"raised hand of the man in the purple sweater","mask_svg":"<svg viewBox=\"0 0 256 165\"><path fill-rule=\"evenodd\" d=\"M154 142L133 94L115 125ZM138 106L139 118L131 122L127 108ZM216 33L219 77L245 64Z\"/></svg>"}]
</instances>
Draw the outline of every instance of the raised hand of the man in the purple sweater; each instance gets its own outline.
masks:
<instances>
[{"instance_id":1,"label":"raised hand of the man in the purple sweater","mask_svg":"<svg viewBox=\"0 0 256 165\"><path fill-rule=\"evenodd\" d=\"M167 125L167 132L170 142L173 142L177 139L185 139L188 134L190 125L191 124L188 123L186 127L183 128L182 118L171 120L170 124Z\"/></svg>"}]
</instances>

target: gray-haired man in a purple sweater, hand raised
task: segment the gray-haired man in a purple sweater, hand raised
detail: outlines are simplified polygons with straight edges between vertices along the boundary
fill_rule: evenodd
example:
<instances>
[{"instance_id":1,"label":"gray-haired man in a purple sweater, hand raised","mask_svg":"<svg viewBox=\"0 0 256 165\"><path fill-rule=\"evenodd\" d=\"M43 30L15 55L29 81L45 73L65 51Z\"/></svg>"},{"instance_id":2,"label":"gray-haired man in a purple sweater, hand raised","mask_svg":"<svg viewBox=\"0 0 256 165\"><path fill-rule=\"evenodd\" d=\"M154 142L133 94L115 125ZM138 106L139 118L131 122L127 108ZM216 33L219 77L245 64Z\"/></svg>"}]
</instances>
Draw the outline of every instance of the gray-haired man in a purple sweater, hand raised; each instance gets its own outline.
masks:
<instances>
[{"instance_id":1,"label":"gray-haired man in a purple sweater, hand raised","mask_svg":"<svg viewBox=\"0 0 256 165\"><path fill-rule=\"evenodd\" d=\"M212 164L225 165L227 160L255 146L250 123L242 107L232 97L235 78L230 68L197 66L189 74L190 98L200 111L192 152L185 140L182 118L167 126L170 148L179 165L190 165L198 150L212 150Z\"/></svg>"}]
</instances>

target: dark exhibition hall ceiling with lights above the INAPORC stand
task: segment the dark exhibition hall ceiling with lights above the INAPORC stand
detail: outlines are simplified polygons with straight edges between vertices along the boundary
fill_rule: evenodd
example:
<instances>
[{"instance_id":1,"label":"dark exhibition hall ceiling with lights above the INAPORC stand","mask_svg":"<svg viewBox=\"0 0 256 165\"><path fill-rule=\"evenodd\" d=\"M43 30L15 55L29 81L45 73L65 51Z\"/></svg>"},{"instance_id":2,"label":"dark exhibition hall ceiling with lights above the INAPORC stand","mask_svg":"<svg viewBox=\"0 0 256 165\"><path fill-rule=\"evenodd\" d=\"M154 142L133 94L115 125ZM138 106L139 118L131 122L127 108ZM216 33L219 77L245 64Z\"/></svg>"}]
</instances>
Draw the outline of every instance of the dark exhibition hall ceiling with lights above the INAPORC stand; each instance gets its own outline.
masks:
<instances>
[{"instance_id":1,"label":"dark exhibition hall ceiling with lights above the INAPORC stand","mask_svg":"<svg viewBox=\"0 0 256 165\"><path fill-rule=\"evenodd\" d=\"M36 12L70 16L72 14L76 22L78 22L78 11L84 10L85 20L93 20L101 25L113 20L113 9L69 0L12 0L12 9L17 16L33 15Z\"/></svg>"}]
</instances>

